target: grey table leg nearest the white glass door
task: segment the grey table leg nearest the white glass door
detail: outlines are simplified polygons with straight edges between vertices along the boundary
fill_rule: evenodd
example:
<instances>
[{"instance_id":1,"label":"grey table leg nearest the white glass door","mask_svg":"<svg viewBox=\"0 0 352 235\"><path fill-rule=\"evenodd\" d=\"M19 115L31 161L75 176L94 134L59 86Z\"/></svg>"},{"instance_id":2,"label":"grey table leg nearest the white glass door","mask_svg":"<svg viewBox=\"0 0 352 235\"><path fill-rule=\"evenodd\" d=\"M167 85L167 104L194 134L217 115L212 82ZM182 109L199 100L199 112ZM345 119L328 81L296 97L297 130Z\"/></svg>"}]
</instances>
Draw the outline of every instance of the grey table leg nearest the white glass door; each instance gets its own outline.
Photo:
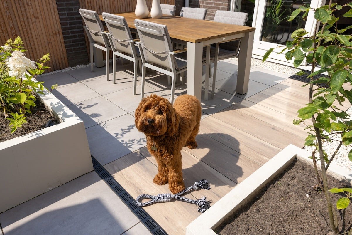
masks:
<instances>
[{"instance_id":1,"label":"grey table leg nearest the white glass door","mask_svg":"<svg viewBox=\"0 0 352 235\"><path fill-rule=\"evenodd\" d=\"M240 51L238 55L238 74L236 93L246 94L248 91L249 73L251 70L251 59L253 50L254 31L247 32L241 38Z\"/></svg>"}]
</instances>

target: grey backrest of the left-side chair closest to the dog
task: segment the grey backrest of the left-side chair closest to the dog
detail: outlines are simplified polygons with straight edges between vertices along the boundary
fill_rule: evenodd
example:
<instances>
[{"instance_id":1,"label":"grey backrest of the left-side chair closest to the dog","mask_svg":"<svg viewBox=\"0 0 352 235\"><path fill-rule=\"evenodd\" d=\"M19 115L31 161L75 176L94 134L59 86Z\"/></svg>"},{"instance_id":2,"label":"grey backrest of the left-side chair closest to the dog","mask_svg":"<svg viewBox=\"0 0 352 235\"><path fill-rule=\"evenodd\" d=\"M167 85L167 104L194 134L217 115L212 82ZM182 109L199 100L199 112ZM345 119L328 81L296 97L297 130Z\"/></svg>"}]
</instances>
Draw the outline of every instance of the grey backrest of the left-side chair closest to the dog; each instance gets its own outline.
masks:
<instances>
[{"instance_id":1,"label":"grey backrest of the left-side chair closest to the dog","mask_svg":"<svg viewBox=\"0 0 352 235\"><path fill-rule=\"evenodd\" d=\"M145 20L135 19L138 37L142 45L146 62L172 68L168 53L172 51L172 44L166 25L156 24Z\"/></svg>"}]
</instances>

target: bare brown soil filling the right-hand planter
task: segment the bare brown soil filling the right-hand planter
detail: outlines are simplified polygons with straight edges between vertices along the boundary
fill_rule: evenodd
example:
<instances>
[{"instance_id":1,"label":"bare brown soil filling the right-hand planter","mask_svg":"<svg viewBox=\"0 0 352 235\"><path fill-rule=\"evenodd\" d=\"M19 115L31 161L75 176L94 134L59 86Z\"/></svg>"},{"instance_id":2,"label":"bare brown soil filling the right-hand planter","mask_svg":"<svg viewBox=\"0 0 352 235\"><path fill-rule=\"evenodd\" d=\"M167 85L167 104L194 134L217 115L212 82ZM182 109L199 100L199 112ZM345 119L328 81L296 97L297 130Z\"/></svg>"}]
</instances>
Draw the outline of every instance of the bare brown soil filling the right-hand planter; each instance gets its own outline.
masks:
<instances>
[{"instance_id":1,"label":"bare brown soil filling the right-hand planter","mask_svg":"<svg viewBox=\"0 0 352 235\"><path fill-rule=\"evenodd\" d=\"M329 188L351 187L335 178L328 178ZM333 208L342 194L330 193ZM345 211L336 210L339 232L352 225L351 205ZM301 161L294 162L263 189L249 205L215 229L221 235L332 235L325 194L319 190L313 167Z\"/></svg>"}]
</instances>

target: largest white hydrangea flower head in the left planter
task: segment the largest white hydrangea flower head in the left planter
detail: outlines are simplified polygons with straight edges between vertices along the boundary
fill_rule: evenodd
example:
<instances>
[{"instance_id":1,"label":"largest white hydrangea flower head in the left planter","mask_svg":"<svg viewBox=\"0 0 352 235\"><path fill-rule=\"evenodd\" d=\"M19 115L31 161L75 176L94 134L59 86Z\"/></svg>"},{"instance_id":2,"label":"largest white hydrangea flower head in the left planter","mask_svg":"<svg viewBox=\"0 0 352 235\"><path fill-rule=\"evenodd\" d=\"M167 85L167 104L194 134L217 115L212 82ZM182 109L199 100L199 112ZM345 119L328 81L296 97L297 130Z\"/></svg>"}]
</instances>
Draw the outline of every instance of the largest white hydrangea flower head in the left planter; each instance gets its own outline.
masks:
<instances>
[{"instance_id":1,"label":"largest white hydrangea flower head in the left planter","mask_svg":"<svg viewBox=\"0 0 352 235\"><path fill-rule=\"evenodd\" d=\"M12 52L11 57L6 61L8 68L10 69L8 75L16 78L24 77L26 70L36 68L34 61L24 56L24 53L17 50Z\"/></svg>"}]
</instances>

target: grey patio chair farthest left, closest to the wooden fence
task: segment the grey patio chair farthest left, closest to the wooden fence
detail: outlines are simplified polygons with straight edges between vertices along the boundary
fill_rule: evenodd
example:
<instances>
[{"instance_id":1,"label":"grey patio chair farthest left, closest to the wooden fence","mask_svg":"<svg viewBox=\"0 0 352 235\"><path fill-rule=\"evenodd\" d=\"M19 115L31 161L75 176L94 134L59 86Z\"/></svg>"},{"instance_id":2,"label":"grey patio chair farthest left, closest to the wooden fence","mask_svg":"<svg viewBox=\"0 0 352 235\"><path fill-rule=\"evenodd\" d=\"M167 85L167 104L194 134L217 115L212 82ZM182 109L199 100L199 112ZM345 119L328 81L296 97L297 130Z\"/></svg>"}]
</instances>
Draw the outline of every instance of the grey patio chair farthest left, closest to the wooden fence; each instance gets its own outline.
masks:
<instances>
[{"instance_id":1,"label":"grey patio chair farthest left, closest to the wooden fence","mask_svg":"<svg viewBox=\"0 0 352 235\"><path fill-rule=\"evenodd\" d=\"M102 51L106 51L106 76L109 81L110 73L110 50L111 47L108 42L106 33L104 32L103 24L98 16L98 13L91 10L80 8L78 10L84 21L84 30L87 33L89 45L90 45L90 71L93 72L93 48L98 48Z\"/></svg>"}]
</instances>

